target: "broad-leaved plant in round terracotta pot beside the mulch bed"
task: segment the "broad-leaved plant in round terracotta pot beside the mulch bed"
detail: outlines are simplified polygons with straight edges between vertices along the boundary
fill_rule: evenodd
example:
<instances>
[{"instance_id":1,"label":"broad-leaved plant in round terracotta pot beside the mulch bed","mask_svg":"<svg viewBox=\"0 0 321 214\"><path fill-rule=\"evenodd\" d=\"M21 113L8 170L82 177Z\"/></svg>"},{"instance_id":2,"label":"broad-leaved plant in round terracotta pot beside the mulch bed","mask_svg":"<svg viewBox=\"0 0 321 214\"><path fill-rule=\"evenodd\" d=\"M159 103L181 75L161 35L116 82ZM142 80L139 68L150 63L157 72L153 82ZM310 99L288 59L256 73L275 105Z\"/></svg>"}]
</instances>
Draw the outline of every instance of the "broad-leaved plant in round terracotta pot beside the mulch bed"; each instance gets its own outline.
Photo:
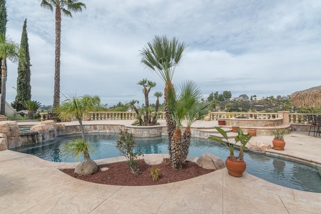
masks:
<instances>
[{"instance_id":1,"label":"broad-leaved plant in round terracotta pot beside the mulch bed","mask_svg":"<svg viewBox=\"0 0 321 214\"><path fill-rule=\"evenodd\" d=\"M225 166L228 170L228 173L235 177L241 177L243 175L243 172L246 169L246 163L244 162L244 159L243 159L245 145L249 142L252 135L244 134L241 129L238 129L238 132L237 132L238 135L234 138L235 143L230 143L228 140L226 131L224 131L220 127L215 127L215 128L225 138L226 142L223 141L222 138L216 137L216 136L210 136L209 138L223 143L228 148L228 150L230 151L230 156L228 156L225 160ZM239 155L235 156L234 147L237 142L241 143L241 147L240 147Z\"/></svg>"}]
</instances>

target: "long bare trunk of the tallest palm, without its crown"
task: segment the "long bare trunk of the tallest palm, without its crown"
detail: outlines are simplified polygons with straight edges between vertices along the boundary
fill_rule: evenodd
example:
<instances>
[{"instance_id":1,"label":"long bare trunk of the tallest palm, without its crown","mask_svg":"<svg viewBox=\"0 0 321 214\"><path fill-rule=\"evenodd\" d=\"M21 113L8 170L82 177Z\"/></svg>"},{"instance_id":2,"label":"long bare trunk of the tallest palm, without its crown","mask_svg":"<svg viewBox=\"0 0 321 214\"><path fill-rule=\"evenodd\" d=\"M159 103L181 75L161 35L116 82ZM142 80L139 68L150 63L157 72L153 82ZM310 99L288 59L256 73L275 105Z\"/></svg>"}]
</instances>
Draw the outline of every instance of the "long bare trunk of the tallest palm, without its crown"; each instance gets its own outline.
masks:
<instances>
[{"instance_id":1,"label":"long bare trunk of the tallest palm, without its crown","mask_svg":"<svg viewBox=\"0 0 321 214\"><path fill-rule=\"evenodd\" d=\"M60 104L60 40L61 40L61 9L56 7L56 46L55 46L55 86L54 107Z\"/></svg>"}]
</instances>

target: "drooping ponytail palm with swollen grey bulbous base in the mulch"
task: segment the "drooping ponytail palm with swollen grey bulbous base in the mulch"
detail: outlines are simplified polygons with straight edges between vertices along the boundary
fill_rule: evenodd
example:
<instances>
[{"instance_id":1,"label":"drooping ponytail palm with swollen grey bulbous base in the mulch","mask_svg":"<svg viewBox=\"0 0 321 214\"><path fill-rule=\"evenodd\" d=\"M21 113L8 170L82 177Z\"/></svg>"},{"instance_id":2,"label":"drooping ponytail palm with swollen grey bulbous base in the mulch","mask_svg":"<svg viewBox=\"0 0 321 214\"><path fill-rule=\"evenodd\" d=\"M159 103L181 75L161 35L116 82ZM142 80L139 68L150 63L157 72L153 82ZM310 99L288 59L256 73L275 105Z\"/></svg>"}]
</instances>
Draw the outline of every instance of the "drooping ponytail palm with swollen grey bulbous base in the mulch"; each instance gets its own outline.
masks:
<instances>
[{"instance_id":1,"label":"drooping ponytail palm with swollen grey bulbous base in the mulch","mask_svg":"<svg viewBox=\"0 0 321 214\"><path fill-rule=\"evenodd\" d=\"M98 166L95 161L90 159L89 146L85 139L85 130L82 124L82 118L84 114L88 114L90 111L99 111L103 106L100 103L98 96L84 95L81 97L72 96L66 98L59 107L56 107L54 111L58 114L59 118L66 121L70 117L76 117L79 121L82 139L70 142L66 146L64 151L70 154L84 154L84 161L82 161L76 168L75 173L78 174L94 174L97 172Z\"/></svg>"}]
</instances>

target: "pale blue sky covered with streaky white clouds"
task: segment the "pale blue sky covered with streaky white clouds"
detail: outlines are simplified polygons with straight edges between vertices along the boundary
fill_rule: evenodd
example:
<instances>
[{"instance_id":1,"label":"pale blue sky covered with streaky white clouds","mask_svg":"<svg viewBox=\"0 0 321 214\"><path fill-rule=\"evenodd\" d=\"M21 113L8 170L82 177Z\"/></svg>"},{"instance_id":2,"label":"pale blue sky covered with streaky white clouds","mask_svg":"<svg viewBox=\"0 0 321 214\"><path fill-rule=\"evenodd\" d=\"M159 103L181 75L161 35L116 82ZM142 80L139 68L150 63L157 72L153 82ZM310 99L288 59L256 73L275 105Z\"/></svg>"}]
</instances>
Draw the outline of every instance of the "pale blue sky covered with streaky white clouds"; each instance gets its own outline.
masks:
<instances>
[{"instance_id":1,"label":"pale blue sky covered with streaky white clouds","mask_svg":"<svg viewBox=\"0 0 321 214\"><path fill-rule=\"evenodd\" d=\"M155 35L177 37L187 49L173 82L194 80L206 99L231 91L258 97L319 86L321 1L82 0L87 10L62 18L61 99L99 95L108 107L143 103L144 78L164 82L140 64ZM7 0L7 36L20 43L24 20L31 56L32 100L52 105L55 16L38 0ZM16 97L17 65L9 63L7 101ZM163 102L163 100L162 100Z\"/></svg>"}]
</instances>

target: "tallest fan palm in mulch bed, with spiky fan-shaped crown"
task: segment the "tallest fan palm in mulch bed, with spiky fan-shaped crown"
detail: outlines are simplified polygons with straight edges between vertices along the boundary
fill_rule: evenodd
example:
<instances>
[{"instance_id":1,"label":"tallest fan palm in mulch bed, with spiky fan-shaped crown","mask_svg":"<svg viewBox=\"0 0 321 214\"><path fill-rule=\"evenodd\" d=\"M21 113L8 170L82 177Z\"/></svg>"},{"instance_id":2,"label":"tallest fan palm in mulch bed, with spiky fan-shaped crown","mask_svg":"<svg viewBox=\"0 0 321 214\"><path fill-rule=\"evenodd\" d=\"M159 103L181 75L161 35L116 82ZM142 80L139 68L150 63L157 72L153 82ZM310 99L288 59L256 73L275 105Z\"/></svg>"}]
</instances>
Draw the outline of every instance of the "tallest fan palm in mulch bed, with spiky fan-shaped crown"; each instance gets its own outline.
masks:
<instances>
[{"instance_id":1,"label":"tallest fan palm in mulch bed, with spiky fan-shaped crown","mask_svg":"<svg viewBox=\"0 0 321 214\"><path fill-rule=\"evenodd\" d=\"M172 78L176 66L179 65L183 58L185 48L185 43L180 43L175 37L172 40L169 40L166 36L155 36L155 38L151 42L148 42L147 46L140 51L141 64L151 71L156 72L156 74L165 82L164 111L166 114L170 155L172 137L176 129L176 124L168 110L168 97L170 89L175 92Z\"/></svg>"}]
</instances>

